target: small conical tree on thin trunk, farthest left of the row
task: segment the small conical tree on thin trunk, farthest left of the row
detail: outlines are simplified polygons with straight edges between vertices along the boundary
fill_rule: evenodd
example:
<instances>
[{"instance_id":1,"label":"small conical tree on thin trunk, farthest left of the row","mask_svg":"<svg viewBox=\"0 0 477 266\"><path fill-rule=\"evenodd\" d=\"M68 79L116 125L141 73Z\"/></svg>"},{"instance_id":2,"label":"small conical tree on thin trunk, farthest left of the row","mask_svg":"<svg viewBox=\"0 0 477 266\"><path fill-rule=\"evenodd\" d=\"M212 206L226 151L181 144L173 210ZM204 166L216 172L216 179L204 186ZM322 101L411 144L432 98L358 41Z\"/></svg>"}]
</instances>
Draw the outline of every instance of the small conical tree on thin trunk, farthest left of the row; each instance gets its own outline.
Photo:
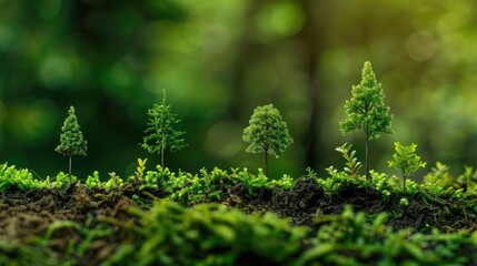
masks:
<instances>
[{"instance_id":1,"label":"small conical tree on thin trunk, farthest left of the row","mask_svg":"<svg viewBox=\"0 0 477 266\"><path fill-rule=\"evenodd\" d=\"M71 156L86 156L87 151L87 141L83 140L82 132L78 124L78 119L74 115L73 106L70 106L70 110L68 111L68 117L64 120L61 132L60 145L58 145L54 151L64 156L69 156L68 175L71 184Z\"/></svg>"}]
</instances>

